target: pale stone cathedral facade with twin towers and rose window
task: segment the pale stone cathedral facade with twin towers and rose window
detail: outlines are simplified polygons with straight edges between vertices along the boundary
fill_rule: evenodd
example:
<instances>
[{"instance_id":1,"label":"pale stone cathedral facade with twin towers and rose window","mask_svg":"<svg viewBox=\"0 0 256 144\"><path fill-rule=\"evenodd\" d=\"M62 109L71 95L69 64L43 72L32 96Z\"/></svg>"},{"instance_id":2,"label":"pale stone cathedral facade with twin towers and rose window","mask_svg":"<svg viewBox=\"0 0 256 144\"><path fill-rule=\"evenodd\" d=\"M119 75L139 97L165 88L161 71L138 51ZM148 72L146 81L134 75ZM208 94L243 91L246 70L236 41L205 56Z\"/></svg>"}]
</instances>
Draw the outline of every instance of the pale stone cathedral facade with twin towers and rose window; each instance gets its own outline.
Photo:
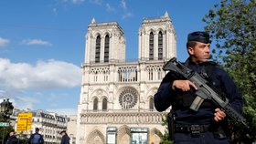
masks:
<instances>
[{"instance_id":1,"label":"pale stone cathedral facade with twin towers and rose window","mask_svg":"<svg viewBox=\"0 0 256 144\"><path fill-rule=\"evenodd\" d=\"M176 33L165 15L144 18L138 33L138 60L126 61L125 37L116 22L88 26L77 118L77 144L160 142L165 133L154 95L176 57Z\"/></svg>"}]
</instances>

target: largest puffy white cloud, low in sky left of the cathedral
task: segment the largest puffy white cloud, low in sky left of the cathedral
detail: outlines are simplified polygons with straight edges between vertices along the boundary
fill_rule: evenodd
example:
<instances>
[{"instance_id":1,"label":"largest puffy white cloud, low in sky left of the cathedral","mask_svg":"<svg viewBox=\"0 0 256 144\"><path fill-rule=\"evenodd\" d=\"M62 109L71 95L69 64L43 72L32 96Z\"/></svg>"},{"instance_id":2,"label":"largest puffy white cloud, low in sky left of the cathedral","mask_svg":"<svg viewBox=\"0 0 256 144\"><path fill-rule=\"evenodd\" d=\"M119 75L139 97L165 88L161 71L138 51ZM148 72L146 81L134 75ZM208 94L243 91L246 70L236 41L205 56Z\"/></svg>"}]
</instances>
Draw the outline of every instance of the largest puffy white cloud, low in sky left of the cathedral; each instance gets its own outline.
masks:
<instances>
[{"instance_id":1,"label":"largest puffy white cloud, low in sky left of the cathedral","mask_svg":"<svg viewBox=\"0 0 256 144\"><path fill-rule=\"evenodd\" d=\"M11 63L0 58L0 87L47 89L80 86L81 70L71 63L54 59L38 61L36 66Z\"/></svg>"}]
</instances>

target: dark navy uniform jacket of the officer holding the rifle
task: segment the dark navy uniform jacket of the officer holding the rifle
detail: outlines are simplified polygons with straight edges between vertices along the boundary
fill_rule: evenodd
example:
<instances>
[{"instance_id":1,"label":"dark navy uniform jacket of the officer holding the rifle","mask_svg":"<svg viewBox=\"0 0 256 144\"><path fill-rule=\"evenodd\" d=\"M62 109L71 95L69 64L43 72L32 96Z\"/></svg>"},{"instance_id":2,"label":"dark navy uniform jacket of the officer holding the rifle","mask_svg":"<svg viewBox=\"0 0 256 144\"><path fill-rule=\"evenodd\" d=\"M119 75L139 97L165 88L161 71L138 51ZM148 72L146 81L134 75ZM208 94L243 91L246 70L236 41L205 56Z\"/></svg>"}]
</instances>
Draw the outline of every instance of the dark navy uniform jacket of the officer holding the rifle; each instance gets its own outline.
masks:
<instances>
[{"instance_id":1,"label":"dark navy uniform jacket of the officer holding the rifle","mask_svg":"<svg viewBox=\"0 0 256 144\"><path fill-rule=\"evenodd\" d=\"M187 67L202 73L206 71L209 65L214 65L212 62L195 64L187 59ZM208 81L212 87L221 91L226 98L229 98L229 103L238 112L241 112L242 98L239 89L236 87L229 75L219 66L215 65L208 72ZM214 118L214 109L217 108L210 100L205 100L198 111L189 109L191 103L196 96L193 92L183 92L179 89L172 89L174 80L185 79L180 74L170 71L162 80L160 87L155 94L155 108L158 111L164 111L172 106L175 111L176 123L180 124L209 124Z\"/></svg>"}]
</instances>

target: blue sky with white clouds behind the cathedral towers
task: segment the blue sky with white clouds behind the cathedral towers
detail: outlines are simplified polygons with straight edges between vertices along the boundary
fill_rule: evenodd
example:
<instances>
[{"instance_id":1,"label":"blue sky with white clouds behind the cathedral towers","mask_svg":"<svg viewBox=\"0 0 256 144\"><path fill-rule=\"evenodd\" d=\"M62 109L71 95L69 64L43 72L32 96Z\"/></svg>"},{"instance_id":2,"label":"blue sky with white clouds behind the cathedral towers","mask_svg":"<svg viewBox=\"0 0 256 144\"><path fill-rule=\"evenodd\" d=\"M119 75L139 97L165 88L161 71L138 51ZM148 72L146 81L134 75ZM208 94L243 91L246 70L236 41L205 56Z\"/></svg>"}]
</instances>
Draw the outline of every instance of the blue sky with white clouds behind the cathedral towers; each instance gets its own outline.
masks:
<instances>
[{"instance_id":1,"label":"blue sky with white clouds behind the cathedral towers","mask_svg":"<svg viewBox=\"0 0 256 144\"><path fill-rule=\"evenodd\" d=\"M117 22L126 38L126 58L138 57L144 17L165 14L177 36L177 59L187 58L187 34L217 1L208 0L1 0L0 98L15 108L75 114L80 65L91 19ZM2 101L2 100L1 100Z\"/></svg>"}]
</instances>

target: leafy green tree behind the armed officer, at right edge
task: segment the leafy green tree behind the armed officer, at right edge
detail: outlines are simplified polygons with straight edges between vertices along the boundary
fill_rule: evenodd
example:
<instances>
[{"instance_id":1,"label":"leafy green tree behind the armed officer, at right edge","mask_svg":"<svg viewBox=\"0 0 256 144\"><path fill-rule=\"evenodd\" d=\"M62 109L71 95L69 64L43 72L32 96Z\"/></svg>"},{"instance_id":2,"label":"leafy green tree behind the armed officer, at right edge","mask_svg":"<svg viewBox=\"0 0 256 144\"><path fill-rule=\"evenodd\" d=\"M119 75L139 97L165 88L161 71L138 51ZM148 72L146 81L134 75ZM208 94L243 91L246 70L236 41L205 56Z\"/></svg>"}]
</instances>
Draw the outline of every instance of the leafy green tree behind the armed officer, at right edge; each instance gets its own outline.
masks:
<instances>
[{"instance_id":1,"label":"leafy green tree behind the armed officer, at right edge","mask_svg":"<svg viewBox=\"0 0 256 144\"><path fill-rule=\"evenodd\" d=\"M232 143L252 143L256 138L255 15L255 0L221 0L203 18L208 24L205 30L216 43L212 58L221 61L244 98L243 116L250 129L232 125Z\"/></svg>"}]
</instances>

